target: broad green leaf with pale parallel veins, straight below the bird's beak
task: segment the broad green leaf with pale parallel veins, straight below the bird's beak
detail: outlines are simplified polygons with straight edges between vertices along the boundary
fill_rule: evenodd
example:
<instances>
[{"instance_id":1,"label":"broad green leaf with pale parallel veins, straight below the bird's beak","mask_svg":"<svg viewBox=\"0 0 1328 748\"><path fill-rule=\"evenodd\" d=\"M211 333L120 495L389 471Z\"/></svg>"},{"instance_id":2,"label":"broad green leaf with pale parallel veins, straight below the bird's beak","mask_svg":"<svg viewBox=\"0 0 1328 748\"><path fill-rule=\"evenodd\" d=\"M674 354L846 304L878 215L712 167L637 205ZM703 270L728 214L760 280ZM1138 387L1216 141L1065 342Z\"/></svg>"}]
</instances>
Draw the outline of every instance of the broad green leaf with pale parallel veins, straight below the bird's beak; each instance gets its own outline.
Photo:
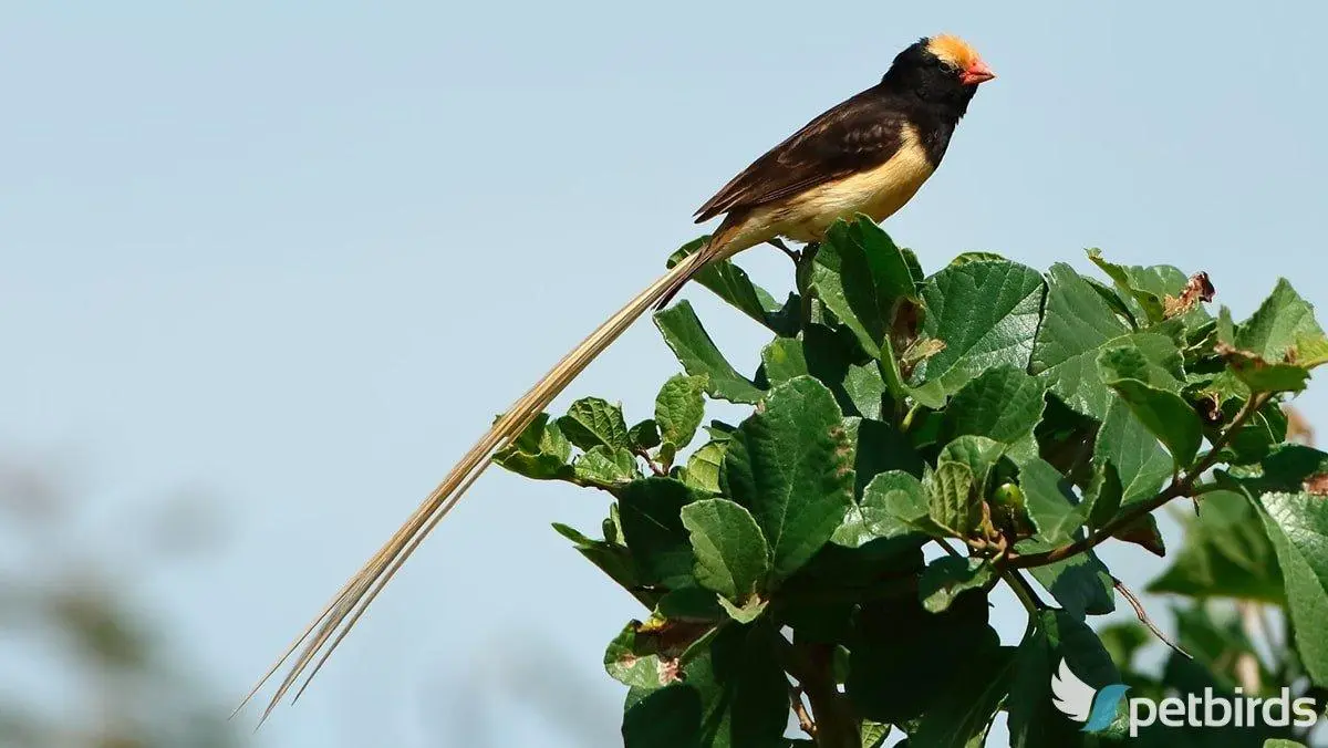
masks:
<instances>
[{"instance_id":1,"label":"broad green leaf with pale parallel veins, straight below the bird's beak","mask_svg":"<svg viewBox=\"0 0 1328 748\"><path fill-rule=\"evenodd\" d=\"M922 331L946 348L918 367L915 381L944 399L992 367L1028 368L1042 291L1037 271L1011 262L969 262L928 278Z\"/></svg>"}]
</instances>

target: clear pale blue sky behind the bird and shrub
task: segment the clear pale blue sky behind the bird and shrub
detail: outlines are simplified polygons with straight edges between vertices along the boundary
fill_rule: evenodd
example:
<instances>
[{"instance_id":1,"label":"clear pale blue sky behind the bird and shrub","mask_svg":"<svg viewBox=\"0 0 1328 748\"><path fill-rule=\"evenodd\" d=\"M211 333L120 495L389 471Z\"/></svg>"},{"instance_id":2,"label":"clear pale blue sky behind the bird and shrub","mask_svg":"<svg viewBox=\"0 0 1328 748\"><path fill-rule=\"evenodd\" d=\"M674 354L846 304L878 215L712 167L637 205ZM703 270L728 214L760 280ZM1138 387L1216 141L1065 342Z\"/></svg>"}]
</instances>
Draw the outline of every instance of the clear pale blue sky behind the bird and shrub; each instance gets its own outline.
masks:
<instances>
[{"instance_id":1,"label":"clear pale blue sky behind the bird and shrub","mask_svg":"<svg viewBox=\"0 0 1328 748\"><path fill-rule=\"evenodd\" d=\"M216 558L133 587L238 698L493 415L704 230L696 206L920 36L964 36L999 76L886 223L926 267L1086 270L1101 247L1206 270L1238 319L1279 275L1328 302L1328 19L1234 8L7 3L0 453L84 486L89 542L154 496L215 498ZM774 251L738 262L790 283ZM754 368L762 331L685 298ZM595 393L641 419L675 371L643 322L555 409ZM1323 391L1300 405L1325 421ZM599 663L640 611L548 527L604 510L486 474L251 744L611 744L623 690ZM1104 557L1137 586L1161 570ZM590 732L560 737L578 708Z\"/></svg>"}]
</instances>

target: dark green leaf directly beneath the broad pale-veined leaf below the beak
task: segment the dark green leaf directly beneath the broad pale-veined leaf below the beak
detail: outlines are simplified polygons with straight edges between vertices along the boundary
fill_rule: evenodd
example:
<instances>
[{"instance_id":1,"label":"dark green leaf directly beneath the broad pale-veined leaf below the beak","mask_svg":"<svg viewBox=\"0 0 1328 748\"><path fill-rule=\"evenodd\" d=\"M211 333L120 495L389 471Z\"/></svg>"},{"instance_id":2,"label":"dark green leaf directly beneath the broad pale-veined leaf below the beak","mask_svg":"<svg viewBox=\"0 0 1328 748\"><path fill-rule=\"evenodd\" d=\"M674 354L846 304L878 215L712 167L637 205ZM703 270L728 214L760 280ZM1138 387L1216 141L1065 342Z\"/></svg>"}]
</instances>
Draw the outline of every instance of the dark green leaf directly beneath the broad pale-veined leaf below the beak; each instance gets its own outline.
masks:
<instances>
[{"instance_id":1,"label":"dark green leaf directly beneath the broad pale-veined leaf below the beak","mask_svg":"<svg viewBox=\"0 0 1328 748\"><path fill-rule=\"evenodd\" d=\"M1033 428L1042 419L1042 381L1023 369L1000 365L965 384L946 408L944 441L961 434L984 436L1009 445L1016 462L1037 457Z\"/></svg>"}]
</instances>

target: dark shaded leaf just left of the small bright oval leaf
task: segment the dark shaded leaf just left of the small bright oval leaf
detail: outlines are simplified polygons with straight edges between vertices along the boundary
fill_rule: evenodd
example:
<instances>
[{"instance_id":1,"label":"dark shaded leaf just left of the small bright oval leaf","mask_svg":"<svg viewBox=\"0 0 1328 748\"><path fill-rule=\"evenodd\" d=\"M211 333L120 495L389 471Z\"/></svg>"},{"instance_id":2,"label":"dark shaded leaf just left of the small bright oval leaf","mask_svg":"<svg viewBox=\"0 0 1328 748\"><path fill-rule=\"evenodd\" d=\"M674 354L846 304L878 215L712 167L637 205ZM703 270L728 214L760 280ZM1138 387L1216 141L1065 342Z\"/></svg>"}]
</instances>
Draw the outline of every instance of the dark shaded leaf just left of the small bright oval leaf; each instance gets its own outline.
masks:
<instances>
[{"instance_id":1,"label":"dark shaded leaf just left of the small bright oval leaf","mask_svg":"<svg viewBox=\"0 0 1328 748\"><path fill-rule=\"evenodd\" d=\"M641 582L665 587L693 587L691 538L683 526L683 506L692 501L688 488L673 478L645 478L619 489L623 538L641 571Z\"/></svg>"}]
</instances>

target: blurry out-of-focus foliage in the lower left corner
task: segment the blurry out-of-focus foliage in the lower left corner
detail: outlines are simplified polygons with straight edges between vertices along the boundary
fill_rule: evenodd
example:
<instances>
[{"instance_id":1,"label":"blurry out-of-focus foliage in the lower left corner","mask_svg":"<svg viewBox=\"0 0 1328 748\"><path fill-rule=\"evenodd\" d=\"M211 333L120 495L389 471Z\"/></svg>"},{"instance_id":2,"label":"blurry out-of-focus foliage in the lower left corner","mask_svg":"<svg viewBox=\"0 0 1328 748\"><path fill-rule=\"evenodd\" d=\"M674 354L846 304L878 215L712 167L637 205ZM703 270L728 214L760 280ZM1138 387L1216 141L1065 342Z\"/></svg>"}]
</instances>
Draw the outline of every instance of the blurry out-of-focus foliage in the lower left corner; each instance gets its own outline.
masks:
<instances>
[{"instance_id":1,"label":"blurry out-of-focus foliage in the lower left corner","mask_svg":"<svg viewBox=\"0 0 1328 748\"><path fill-rule=\"evenodd\" d=\"M53 474L0 465L0 745L238 745L129 585L207 547L214 522L183 500L117 513L84 542L84 506Z\"/></svg>"}]
</instances>

